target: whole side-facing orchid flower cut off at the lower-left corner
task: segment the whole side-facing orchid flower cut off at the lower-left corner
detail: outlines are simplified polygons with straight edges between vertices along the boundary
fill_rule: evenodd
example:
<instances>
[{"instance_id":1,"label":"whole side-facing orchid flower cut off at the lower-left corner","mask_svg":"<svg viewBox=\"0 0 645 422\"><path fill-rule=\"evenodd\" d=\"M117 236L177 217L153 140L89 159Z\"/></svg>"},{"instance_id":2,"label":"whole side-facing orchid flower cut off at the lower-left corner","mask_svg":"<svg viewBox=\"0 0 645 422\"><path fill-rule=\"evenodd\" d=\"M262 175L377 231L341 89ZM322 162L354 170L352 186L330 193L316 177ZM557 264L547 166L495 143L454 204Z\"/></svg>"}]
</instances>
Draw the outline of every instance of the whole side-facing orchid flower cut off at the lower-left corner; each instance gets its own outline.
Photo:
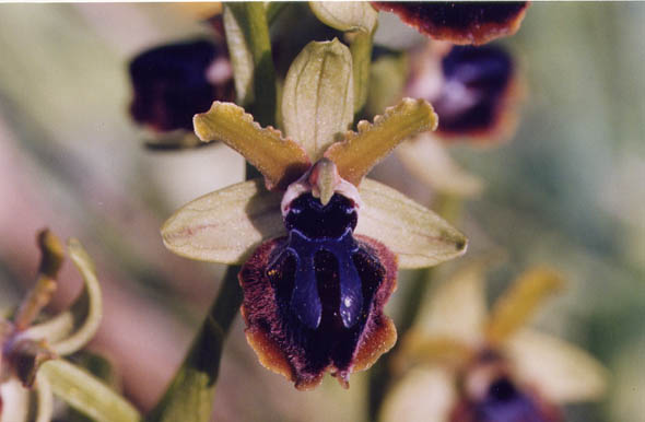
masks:
<instances>
[{"instance_id":1,"label":"whole side-facing orchid flower cut off at the lower-left corner","mask_svg":"<svg viewBox=\"0 0 645 422\"><path fill-rule=\"evenodd\" d=\"M56 291L63 247L47 230L38 234L38 246L36 285L13 318L0 318L0 421L50 421L54 395L99 421L140 420L137 410L109 387L62 359L83 348L101 321L101 289L92 260L79 241L68 242L70 258L83 277L83 292L67 310L39 321L40 310ZM37 397L35 412L30 405L32 387Z\"/></svg>"}]
</instances>

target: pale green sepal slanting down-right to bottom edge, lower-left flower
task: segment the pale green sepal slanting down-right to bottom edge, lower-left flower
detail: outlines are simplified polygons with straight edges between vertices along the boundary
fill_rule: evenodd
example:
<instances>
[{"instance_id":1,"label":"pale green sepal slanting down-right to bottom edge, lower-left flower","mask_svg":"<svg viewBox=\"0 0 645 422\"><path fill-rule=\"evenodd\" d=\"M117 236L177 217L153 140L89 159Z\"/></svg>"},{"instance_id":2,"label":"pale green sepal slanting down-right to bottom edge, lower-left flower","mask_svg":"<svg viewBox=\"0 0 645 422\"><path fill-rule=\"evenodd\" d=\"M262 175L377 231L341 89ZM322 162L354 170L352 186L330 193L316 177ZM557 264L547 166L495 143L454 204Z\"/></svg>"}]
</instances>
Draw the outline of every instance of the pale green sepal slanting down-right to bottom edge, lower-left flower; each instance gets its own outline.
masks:
<instances>
[{"instance_id":1,"label":"pale green sepal slanting down-right to bottom edge, lower-left flower","mask_svg":"<svg viewBox=\"0 0 645 422\"><path fill-rule=\"evenodd\" d=\"M87 372L62 360L43 364L51 390L68 405L98 422L134 422L141 415L132 405Z\"/></svg>"}]
</instances>

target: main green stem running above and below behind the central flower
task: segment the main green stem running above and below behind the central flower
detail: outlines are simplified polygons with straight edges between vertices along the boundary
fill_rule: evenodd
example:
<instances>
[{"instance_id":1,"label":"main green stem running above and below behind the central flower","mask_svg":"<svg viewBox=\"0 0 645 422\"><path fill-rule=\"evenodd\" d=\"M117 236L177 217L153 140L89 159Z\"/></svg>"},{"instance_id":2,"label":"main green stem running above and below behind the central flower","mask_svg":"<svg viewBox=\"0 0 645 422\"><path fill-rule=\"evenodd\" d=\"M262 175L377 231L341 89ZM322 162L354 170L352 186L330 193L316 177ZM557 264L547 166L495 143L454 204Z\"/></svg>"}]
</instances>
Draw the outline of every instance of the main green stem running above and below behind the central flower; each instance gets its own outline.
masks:
<instances>
[{"instance_id":1,"label":"main green stem running above and below behind the central flower","mask_svg":"<svg viewBox=\"0 0 645 422\"><path fill-rule=\"evenodd\" d=\"M251 105L256 121L262 126L275 120L275 71L271 57L271 40L267 12L262 2L226 3L242 28L253 56L254 94ZM246 179L259 177L256 168L246 165ZM239 266L226 270L222 286L199 330L184 363L175 374L161 401L150 412L148 421L209 421L213 410L215 382L226 335L242 304L237 281Z\"/></svg>"}]
</instances>

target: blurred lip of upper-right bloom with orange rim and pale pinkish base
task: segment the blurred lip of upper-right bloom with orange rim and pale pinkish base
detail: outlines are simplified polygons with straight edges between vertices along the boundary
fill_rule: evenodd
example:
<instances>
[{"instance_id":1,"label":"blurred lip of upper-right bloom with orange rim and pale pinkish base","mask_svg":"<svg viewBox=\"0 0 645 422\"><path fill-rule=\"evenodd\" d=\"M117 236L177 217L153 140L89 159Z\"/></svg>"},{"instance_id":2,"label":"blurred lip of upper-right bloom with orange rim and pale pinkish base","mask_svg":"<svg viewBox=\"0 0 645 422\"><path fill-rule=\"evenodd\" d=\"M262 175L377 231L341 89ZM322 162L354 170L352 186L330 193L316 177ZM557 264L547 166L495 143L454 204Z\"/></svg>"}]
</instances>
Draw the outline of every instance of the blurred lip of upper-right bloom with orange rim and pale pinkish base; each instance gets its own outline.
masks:
<instances>
[{"instance_id":1,"label":"blurred lip of upper-right bloom with orange rim and pale pinkish base","mask_svg":"<svg viewBox=\"0 0 645 422\"><path fill-rule=\"evenodd\" d=\"M501 46L432 44L413 59L407 94L425 98L439 116L442 140L499 143L517 121L517 65Z\"/></svg>"}]
</instances>

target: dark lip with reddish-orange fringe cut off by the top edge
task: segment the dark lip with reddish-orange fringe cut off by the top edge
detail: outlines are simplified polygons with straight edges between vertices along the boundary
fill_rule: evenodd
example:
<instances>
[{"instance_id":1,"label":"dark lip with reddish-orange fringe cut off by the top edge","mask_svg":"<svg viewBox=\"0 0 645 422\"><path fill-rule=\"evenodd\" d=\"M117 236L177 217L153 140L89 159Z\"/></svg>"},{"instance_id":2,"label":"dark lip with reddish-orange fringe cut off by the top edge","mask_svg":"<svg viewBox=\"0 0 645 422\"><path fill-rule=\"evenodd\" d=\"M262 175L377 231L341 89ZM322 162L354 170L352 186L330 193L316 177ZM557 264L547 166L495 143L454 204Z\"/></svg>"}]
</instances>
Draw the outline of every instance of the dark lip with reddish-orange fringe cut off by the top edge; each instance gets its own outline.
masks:
<instances>
[{"instance_id":1,"label":"dark lip with reddish-orange fringe cut off by the top edge","mask_svg":"<svg viewBox=\"0 0 645 422\"><path fill-rule=\"evenodd\" d=\"M376 1L372 4L396 13L404 23L434 39L480 45L515 34L529 2Z\"/></svg>"}]
</instances>

